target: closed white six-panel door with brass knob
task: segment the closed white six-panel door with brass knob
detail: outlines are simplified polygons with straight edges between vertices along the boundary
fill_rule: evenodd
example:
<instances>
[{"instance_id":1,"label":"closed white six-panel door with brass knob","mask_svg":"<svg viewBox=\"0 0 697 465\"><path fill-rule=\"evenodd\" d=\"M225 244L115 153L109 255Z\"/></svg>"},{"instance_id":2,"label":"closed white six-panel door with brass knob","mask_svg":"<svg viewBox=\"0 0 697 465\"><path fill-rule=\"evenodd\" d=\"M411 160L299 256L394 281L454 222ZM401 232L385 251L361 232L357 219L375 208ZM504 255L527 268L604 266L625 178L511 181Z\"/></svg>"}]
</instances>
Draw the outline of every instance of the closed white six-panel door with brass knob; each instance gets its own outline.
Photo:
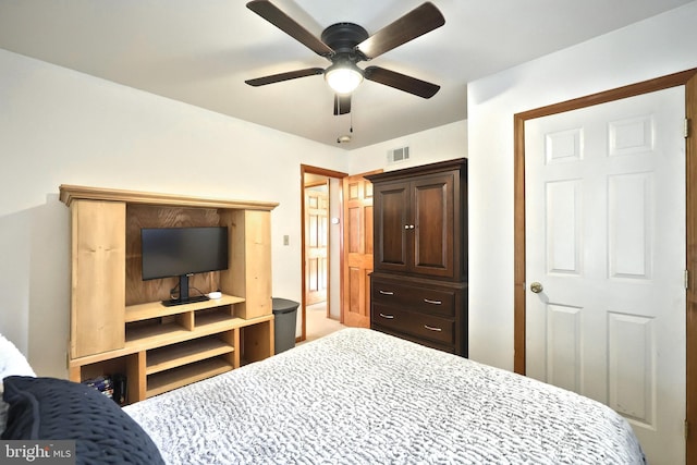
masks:
<instances>
[{"instance_id":1,"label":"closed white six-panel door with brass knob","mask_svg":"<svg viewBox=\"0 0 697 465\"><path fill-rule=\"evenodd\" d=\"M653 465L685 462L684 106L525 125L527 375L621 413Z\"/></svg>"}]
</instances>

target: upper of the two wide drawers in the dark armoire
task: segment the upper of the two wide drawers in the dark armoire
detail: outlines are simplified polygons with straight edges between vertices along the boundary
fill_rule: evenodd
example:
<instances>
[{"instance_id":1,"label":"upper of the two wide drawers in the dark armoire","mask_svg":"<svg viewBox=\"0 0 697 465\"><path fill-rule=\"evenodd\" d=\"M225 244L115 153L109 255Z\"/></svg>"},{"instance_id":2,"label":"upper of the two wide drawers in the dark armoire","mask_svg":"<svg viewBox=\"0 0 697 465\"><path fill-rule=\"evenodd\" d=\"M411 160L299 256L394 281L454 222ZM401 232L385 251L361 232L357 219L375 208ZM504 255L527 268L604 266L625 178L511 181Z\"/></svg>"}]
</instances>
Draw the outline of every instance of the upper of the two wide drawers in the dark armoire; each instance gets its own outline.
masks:
<instances>
[{"instance_id":1,"label":"upper of the two wide drawers in the dark armoire","mask_svg":"<svg viewBox=\"0 0 697 465\"><path fill-rule=\"evenodd\" d=\"M374 279L371 298L375 303L396 307L408 307L430 315L455 316L455 292L399 284L392 281Z\"/></svg>"}]
</instances>

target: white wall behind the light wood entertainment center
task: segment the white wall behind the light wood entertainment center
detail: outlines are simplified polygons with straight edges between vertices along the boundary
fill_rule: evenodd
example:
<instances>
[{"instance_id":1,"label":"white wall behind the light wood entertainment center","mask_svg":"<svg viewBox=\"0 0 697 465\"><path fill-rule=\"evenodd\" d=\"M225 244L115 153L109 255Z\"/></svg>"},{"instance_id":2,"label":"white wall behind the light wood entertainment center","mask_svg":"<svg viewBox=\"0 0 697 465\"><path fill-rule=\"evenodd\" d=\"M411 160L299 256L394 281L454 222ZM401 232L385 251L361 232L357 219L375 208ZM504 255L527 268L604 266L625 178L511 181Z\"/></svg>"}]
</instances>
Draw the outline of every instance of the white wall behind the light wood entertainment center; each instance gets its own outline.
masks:
<instances>
[{"instance_id":1,"label":"white wall behind the light wood entertainment center","mask_svg":"<svg viewBox=\"0 0 697 465\"><path fill-rule=\"evenodd\" d=\"M0 333L38 374L65 376L60 184L280 201L273 295L301 301L299 164L347 171L344 150L4 50L0 70Z\"/></svg>"}]
</instances>

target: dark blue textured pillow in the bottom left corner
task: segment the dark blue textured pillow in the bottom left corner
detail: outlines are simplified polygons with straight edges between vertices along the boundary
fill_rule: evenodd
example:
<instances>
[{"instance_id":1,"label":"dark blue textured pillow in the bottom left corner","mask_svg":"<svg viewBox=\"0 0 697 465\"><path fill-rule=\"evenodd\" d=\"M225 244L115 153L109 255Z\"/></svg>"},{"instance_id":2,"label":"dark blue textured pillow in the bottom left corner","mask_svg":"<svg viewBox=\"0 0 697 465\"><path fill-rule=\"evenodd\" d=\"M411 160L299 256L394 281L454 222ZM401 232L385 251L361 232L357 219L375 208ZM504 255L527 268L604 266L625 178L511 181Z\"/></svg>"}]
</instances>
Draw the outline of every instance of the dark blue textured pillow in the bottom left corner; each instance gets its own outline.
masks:
<instances>
[{"instance_id":1,"label":"dark blue textured pillow in the bottom left corner","mask_svg":"<svg viewBox=\"0 0 697 465\"><path fill-rule=\"evenodd\" d=\"M143 428L90 387L23 376L3 383L10 404L4 440L75 440L78 464L164 463Z\"/></svg>"}]
</instances>

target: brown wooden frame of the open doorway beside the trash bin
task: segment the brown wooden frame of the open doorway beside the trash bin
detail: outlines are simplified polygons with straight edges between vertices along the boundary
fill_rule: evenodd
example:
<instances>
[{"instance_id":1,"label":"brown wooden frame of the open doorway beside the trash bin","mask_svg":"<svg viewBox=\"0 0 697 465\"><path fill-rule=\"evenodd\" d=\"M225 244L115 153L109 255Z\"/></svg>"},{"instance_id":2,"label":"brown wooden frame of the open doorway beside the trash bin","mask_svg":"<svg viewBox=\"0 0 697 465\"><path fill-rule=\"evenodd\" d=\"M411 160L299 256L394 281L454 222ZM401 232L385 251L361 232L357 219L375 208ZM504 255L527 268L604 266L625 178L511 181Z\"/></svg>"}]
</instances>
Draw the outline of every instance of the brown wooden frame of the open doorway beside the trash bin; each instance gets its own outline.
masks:
<instances>
[{"instance_id":1,"label":"brown wooden frame of the open doorway beside the trash bin","mask_svg":"<svg viewBox=\"0 0 697 465\"><path fill-rule=\"evenodd\" d=\"M307 285L307 283L305 282L305 273L306 273L306 269L305 269L305 174L318 174L320 176L327 176L327 178L335 178L338 180L342 180L343 178L346 178L348 174L347 173L342 173L341 171L333 171L333 170L328 170L326 168L319 168L319 167L311 167L309 164L302 164L301 163L301 335L299 338L295 338L295 342L301 342L301 341L305 341L305 339L307 338L307 310L306 310L306 299L305 299L305 286ZM330 192L330 209L331 209L331 187L329 188ZM340 195L340 200L339 200L339 215L340 215L340 220L339 220L339 267L340 270L343 270L343 219L341 218L342 211L343 211L343 198L341 198ZM330 238L328 240L327 243L327 248L328 250L331 250L331 235ZM331 266L330 266L330 256L331 253L328 252L328 257L327 257L327 311L329 311L329 302L332 295L332 289L331 289ZM343 274L343 271L342 271ZM340 282L343 282L343 276L340 276ZM339 286L340 287L340 293L342 292L341 287L343 287L342 285Z\"/></svg>"}]
</instances>

